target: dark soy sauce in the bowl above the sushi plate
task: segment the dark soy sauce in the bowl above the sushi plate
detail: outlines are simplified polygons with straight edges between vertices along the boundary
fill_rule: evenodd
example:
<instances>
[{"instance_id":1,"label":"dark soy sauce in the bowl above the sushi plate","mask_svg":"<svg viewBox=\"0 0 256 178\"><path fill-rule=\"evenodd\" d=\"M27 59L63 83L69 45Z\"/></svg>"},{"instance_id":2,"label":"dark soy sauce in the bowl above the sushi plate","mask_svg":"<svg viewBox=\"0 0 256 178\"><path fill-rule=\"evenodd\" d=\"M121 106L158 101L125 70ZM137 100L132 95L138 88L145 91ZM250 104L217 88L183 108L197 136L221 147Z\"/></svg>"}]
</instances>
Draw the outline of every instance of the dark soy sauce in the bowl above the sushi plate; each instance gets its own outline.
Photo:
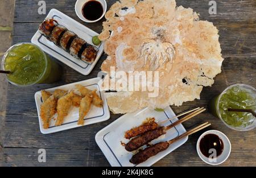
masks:
<instances>
[{"instance_id":1,"label":"dark soy sauce in the bowl above the sushi plate","mask_svg":"<svg viewBox=\"0 0 256 178\"><path fill-rule=\"evenodd\" d=\"M103 13L103 7L98 1L88 1L82 7L82 15L84 15L84 18L87 20L97 20L101 18Z\"/></svg>"}]
</instances>

